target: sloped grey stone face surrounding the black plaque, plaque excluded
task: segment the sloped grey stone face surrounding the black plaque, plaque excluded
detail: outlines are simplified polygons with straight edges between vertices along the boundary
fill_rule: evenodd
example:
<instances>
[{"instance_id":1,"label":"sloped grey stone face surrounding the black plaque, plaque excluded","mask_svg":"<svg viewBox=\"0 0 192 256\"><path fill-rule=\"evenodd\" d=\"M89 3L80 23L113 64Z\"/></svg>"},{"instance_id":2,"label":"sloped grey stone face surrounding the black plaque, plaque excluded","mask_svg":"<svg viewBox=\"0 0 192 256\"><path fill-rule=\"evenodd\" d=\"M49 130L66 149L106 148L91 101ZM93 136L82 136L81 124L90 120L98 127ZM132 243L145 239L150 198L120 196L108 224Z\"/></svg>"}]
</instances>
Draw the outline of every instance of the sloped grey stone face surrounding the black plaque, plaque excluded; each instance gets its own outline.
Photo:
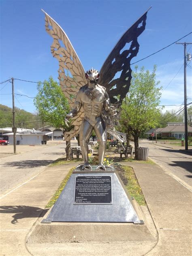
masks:
<instances>
[{"instance_id":1,"label":"sloped grey stone face surrounding the black plaque, plaque excluded","mask_svg":"<svg viewBox=\"0 0 192 256\"><path fill-rule=\"evenodd\" d=\"M113 204L88 204L75 205L74 190L76 176L109 176L112 179ZM58 201L53 205L49 215L43 222L133 222L142 223L135 212L128 193L122 187L122 183L116 173L73 173L70 176Z\"/></svg>"}]
</instances>

